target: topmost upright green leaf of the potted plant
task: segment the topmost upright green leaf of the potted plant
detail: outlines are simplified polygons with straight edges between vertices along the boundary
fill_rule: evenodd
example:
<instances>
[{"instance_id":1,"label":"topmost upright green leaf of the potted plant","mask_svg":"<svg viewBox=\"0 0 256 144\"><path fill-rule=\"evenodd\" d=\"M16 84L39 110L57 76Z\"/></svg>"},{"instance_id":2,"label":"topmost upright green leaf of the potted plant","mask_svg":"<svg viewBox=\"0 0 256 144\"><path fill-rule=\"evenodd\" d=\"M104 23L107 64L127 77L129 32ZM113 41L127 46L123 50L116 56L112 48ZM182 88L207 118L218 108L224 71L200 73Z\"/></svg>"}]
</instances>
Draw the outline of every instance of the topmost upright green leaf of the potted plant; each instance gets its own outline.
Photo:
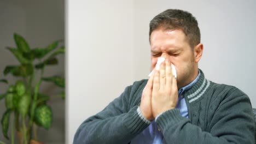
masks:
<instances>
[{"instance_id":1,"label":"topmost upright green leaf of the potted plant","mask_svg":"<svg viewBox=\"0 0 256 144\"><path fill-rule=\"evenodd\" d=\"M18 47L18 50L21 52L29 52L30 51L30 46L28 46L27 41L21 37L19 34L14 34L14 40L15 43Z\"/></svg>"}]
</instances>

